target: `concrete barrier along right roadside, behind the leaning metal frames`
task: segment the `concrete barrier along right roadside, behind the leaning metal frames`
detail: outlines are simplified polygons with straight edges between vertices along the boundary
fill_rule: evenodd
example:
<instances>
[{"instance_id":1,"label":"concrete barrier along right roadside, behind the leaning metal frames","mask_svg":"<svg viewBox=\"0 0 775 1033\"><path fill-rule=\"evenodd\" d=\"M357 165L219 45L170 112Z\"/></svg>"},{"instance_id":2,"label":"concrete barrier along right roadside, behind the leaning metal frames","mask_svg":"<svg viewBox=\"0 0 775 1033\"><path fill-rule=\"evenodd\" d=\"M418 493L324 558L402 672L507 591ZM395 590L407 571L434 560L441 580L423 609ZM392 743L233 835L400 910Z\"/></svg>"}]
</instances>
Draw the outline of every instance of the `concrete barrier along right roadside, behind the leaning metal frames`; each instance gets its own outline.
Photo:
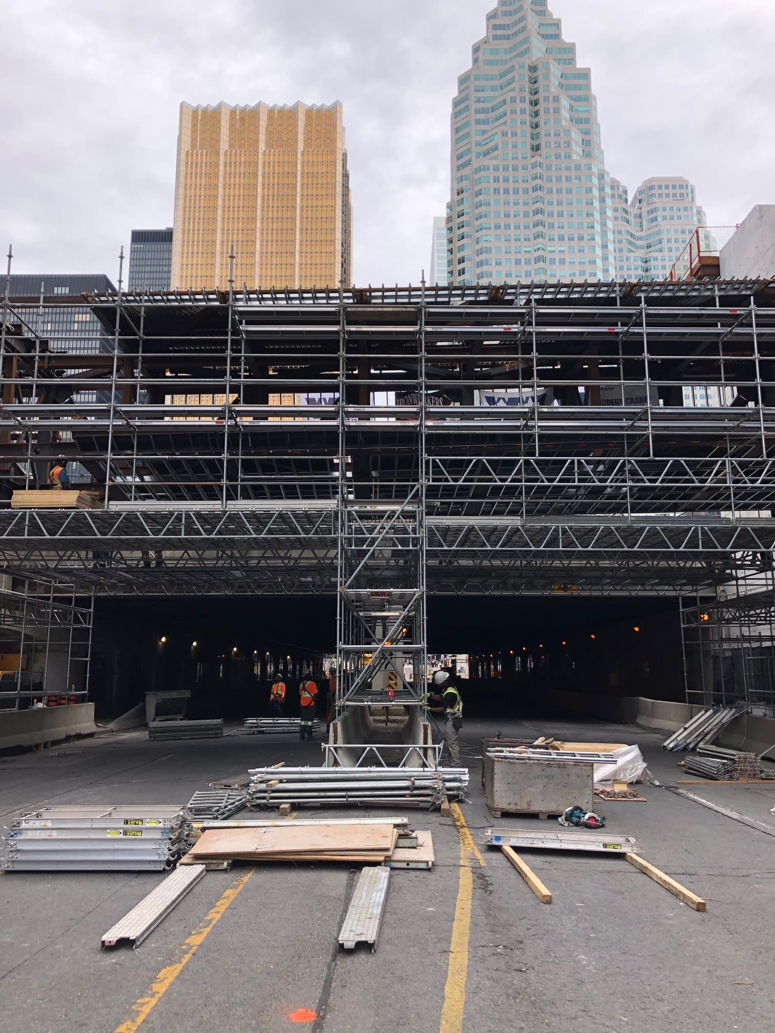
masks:
<instances>
[{"instance_id":1,"label":"concrete barrier along right roadside, behind the leaning metal frames","mask_svg":"<svg viewBox=\"0 0 775 1033\"><path fill-rule=\"evenodd\" d=\"M545 696L553 708L579 717L594 717L600 721L637 724L650 731L664 732L665 739L678 731L704 707L646 699L644 696L602 696L584 692L548 692ZM716 740L719 746L764 753L775 744L775 720L743 714L729 724Z\"/></svg>"}]
</instances>

